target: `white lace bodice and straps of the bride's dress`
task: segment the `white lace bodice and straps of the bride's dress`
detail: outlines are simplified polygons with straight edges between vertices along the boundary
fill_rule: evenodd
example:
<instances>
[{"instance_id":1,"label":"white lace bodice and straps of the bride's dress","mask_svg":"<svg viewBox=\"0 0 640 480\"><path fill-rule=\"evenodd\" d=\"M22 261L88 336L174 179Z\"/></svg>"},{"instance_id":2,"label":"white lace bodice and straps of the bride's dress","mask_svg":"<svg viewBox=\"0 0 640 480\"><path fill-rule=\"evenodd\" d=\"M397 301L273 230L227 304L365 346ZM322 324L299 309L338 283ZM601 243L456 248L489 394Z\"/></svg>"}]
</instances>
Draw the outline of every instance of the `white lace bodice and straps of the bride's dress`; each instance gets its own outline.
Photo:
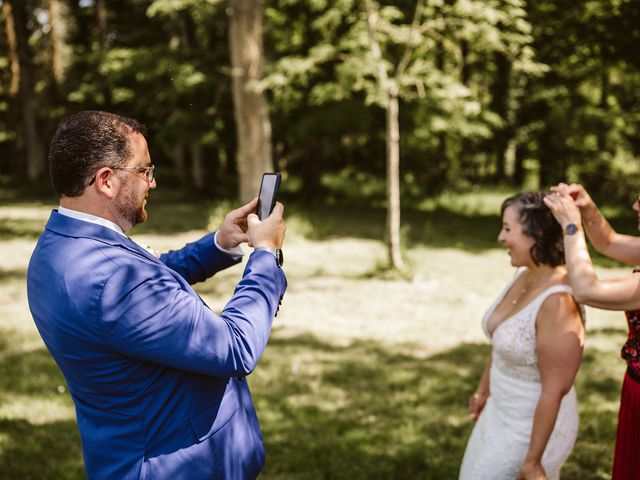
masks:
<instances>
[{"instance_id":1,"label":"white lace bodice and straps of the bride's dress","mask_svg":"<svg viewBox=\"0 0 640 480\"><path fill-rule=\"evenodd\" d=\"M504 298L516 279L526 271L520 268L482 318L482 328L493 345L492 363L502 373L512 378L540 382L538 354L536 352L536 318L542 303L554 293L573 294L568 285L554 285L540 293L522 310L498 324L491 335L487 323L491 314Z\"/></svg>"}]
</instances>

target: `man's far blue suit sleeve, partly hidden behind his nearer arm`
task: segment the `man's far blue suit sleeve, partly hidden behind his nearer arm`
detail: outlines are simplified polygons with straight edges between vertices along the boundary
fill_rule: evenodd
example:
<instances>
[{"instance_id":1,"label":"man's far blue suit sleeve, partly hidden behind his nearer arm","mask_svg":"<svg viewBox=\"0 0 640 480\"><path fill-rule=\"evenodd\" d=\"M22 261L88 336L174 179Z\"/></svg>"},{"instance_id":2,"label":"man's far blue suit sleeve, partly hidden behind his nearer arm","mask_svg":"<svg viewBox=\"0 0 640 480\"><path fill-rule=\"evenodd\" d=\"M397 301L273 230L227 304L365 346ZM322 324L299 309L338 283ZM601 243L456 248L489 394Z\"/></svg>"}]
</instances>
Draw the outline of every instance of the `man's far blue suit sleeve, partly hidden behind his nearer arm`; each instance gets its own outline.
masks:
<instances>
[{"instance_id":1,"label":"man's far blue suit sleeve, partly hidden behind his nearer arm","mask_svg":"<svg viewBox=\"0 0 640 480\"><path fill-rule=\"evenodd\" d=\"M205 235L180 250L163 253L160 261L182 275L190 285L203 282L220 270L241 261L216 247L214 238L215 232Z\"/></svg>"}]
</instances>

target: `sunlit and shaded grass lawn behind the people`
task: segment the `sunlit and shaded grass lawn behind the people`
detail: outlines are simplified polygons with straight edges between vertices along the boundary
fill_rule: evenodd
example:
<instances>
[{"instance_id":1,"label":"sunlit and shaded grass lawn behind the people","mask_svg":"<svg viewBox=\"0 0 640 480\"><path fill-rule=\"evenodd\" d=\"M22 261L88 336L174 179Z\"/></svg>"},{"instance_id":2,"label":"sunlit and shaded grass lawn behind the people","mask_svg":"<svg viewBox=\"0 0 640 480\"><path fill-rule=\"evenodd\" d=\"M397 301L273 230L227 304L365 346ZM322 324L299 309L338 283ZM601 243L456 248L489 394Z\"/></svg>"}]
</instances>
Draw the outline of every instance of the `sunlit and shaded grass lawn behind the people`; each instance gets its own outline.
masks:
<instances>
[{"instance_id":1,"label":"sunlit and shaded grass lawn behind the people","mask_svg":"<svg viewBox=\"0 0 640 480\"><path fill-rule=\"evenodd\" d=\"M131 233L159 250L198 238L228 207L154 195L149 222ZM383 211L288 206L289 288L249 378L267 447L261 478L457 478L467 398L489 354L480 318L513 275L495 240L504 196L406 212L412 281L380 275ZM0 205L0 478L84 478L73 405L26 302L28 259L53 206ZM219 311L241 273L197 290ZM625 338L621 313L588 309L581 426L563 478L610 477Z\"/></svg>"}]
</instances>

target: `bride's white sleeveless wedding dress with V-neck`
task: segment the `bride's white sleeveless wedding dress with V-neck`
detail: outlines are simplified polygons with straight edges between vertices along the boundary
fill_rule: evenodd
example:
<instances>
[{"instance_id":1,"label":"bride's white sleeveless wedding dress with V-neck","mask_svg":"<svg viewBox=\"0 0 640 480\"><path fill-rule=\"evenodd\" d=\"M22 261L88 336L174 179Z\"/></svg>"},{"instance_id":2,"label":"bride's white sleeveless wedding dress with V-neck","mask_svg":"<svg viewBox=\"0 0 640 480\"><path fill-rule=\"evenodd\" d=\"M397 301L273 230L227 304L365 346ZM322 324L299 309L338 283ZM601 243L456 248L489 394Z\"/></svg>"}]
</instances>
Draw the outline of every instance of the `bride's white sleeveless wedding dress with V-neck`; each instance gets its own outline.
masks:
<instances>
[{"instance_id":1,"label":"bride's white sleeveless wedding dress with V-neck","mask_svg":"<svg viewBox=\"0 0 640 480\"><path fill-rule=\"evenodd\" d=\"M513 480L524 462L536 405L540 397L540 370L536 353L536 317L544 300L557 292L572 293L556 285L542 292L522 310L500 323L490 335L487 322L516 278L520 268L482 318L493 346L489 390L460 467L460 480ZM560 404L558 418L542 457L549 480L558 479L578 433L578 403L573 387Z\"/></svg>"}]
</instances>

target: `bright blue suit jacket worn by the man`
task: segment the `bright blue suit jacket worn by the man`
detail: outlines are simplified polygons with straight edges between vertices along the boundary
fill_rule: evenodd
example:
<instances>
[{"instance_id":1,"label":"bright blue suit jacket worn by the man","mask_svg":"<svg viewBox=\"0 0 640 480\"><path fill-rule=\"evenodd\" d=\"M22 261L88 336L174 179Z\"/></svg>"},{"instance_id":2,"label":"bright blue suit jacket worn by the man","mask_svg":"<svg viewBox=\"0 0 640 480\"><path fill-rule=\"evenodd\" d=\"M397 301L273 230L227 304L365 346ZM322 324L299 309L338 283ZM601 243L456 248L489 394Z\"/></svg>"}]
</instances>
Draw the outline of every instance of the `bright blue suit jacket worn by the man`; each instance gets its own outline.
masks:
<instances>
[{"instance_id":1,"label":"bright blue suit jacket worn by the man","mask_svg":"<svg viewBox=\"0 0 640 480\"><path fill-rule=\"evenodd\" d=\"M29 307L76 407L91 479L246 479L264 463L244 376L286 288L254 252L220 316L190 284L234 263L213 235L160 260L53 211L29 263Z\"/></svg>"}]
</instances>

